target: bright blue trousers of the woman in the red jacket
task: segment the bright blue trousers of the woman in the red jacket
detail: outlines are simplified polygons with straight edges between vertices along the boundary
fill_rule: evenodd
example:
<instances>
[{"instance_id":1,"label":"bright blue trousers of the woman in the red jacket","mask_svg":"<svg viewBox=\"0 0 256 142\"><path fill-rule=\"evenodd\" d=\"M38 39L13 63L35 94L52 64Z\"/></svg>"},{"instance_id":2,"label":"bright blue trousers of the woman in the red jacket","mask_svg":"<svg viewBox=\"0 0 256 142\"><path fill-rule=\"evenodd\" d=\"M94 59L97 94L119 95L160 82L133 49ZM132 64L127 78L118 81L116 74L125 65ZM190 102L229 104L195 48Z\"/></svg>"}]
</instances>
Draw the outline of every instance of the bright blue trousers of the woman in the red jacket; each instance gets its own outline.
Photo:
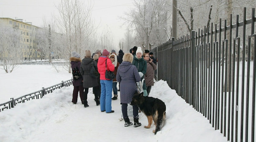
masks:
<instances>
[{"instance_id":1,"label":"bright blue trousers of the woman in the red jacket","mask_svg":"<svg viewBox=\"0 0 256 142\"><path fill-rule=\"evenodd\" d=\"M101 80L101 111L111 112L112 106L111 106L111 98L112 98L112 86L113 81L112 80Z\"/></svg>"}]
</instances>

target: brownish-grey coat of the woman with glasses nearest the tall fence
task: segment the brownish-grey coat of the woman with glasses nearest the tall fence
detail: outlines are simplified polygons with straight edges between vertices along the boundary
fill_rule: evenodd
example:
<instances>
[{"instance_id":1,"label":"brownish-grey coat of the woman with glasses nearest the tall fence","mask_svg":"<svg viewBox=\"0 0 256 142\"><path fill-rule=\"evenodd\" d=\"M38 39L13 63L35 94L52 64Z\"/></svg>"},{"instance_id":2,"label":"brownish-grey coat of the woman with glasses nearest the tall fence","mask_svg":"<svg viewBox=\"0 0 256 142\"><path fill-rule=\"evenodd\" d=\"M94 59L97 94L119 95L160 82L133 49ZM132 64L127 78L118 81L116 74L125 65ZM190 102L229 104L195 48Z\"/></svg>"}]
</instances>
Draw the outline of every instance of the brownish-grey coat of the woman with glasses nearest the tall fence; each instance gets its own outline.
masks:
<instances>
[{"instance_id":1,"label":"brownish-grey coat of the woman with glasses nearest the tall fence","mask_svg":"<svg viewBox=\"0 0 256 142\"><path fill-rule=\"evenodd\" d=\"M154 70L156 70L156 68L153 61L151 63L147 61L147 72L145 74L146 86L154 86Z\"/></svg>"}]
</instances>

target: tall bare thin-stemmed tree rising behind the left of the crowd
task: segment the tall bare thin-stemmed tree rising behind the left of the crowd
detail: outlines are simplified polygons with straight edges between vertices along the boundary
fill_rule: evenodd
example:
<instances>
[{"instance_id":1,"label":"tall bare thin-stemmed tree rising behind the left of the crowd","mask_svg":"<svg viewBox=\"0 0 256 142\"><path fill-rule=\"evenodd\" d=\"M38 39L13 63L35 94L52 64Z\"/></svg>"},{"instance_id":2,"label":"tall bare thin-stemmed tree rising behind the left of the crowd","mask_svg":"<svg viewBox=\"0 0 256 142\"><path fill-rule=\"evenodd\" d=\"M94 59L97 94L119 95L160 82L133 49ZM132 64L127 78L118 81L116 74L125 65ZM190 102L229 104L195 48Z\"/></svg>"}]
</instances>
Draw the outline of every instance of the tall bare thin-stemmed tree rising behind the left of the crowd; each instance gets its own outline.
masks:
<instances>
[{"instance_id":1,"label":"tall bare thin-stemmed tree rising behind the left of the crowd","mask_svg":"<svg viewBox=\"0 0 256 142\"><path fill-rule=\"evenodd\" d=\"M55 17L58 23L58 32L65 41L62 43L62 57L69 62L72 51L84 54L85 49L95 47L97 27L91 17L92 4L87 5L79 0L62 0L57 6L60 17ZM71 73L70 64L66 70Z\"/></svg>"}]
</instances>

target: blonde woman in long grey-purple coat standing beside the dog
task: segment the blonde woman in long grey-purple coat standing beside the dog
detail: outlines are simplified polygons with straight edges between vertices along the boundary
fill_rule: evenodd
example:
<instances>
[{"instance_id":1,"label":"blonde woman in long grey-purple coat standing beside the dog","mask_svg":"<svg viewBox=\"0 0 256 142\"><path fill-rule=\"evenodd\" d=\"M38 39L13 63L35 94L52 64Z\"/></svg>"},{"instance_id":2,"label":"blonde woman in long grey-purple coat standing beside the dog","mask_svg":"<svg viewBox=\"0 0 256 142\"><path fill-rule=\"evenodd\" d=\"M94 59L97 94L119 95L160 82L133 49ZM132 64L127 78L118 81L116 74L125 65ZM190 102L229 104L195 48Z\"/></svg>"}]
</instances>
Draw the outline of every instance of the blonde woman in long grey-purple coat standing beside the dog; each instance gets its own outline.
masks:
<instances>
[{"instance_id":1,"label":"blonde woman in long grey-purple coat standing beside the dog","mask_svg":"<svg viewBox=\"0 0 256 142\"><path fill-rule=\"evenodd\" d=\"M140 74L136 66L132 65L133 55L126 53L123 55L123 62L119 65L116 74L116 80L120 83L120 102L122 104L122 114L125 121L124 127L130 126L133 123L127 114L127 106L132 101L133 94L137 91L136 82L140 81ZM133 121L134 127L141 126L138 115L139 107L133 106Z\"/></svg>"}]
</instances>

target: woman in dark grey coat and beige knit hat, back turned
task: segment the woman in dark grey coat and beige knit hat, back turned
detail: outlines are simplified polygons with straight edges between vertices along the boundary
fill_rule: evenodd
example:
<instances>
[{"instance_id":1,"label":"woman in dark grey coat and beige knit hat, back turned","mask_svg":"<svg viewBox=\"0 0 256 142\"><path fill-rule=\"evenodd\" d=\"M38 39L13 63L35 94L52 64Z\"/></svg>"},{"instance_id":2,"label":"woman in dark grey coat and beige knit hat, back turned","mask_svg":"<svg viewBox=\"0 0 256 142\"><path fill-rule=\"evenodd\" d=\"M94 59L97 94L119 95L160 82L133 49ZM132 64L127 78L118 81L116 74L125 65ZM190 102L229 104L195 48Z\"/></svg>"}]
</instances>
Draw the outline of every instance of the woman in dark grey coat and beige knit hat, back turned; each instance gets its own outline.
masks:
<instances>
[{"instance_id":1,"label":"woman in dark grey coat and beige knit hat, back turned","mask_svg":"<svg viewBox=\"0 0 256 142\"><path fill-rule=\"evenodd\" d=\"M91 58L91 51L85 51L85 57L82 60L81 67L80 67L80 74L83 76L83 87L84 87L84 107L89 107L87 102L87 94L89 88L94 89L94 101L96 101L96 105L100 104L99 98L101 95L100 86L98 85L97 78L93 78L90 75L91 71L91 63L93 64L95 70L98 70L97 63Z\"/></svg>"}]
</instances>

